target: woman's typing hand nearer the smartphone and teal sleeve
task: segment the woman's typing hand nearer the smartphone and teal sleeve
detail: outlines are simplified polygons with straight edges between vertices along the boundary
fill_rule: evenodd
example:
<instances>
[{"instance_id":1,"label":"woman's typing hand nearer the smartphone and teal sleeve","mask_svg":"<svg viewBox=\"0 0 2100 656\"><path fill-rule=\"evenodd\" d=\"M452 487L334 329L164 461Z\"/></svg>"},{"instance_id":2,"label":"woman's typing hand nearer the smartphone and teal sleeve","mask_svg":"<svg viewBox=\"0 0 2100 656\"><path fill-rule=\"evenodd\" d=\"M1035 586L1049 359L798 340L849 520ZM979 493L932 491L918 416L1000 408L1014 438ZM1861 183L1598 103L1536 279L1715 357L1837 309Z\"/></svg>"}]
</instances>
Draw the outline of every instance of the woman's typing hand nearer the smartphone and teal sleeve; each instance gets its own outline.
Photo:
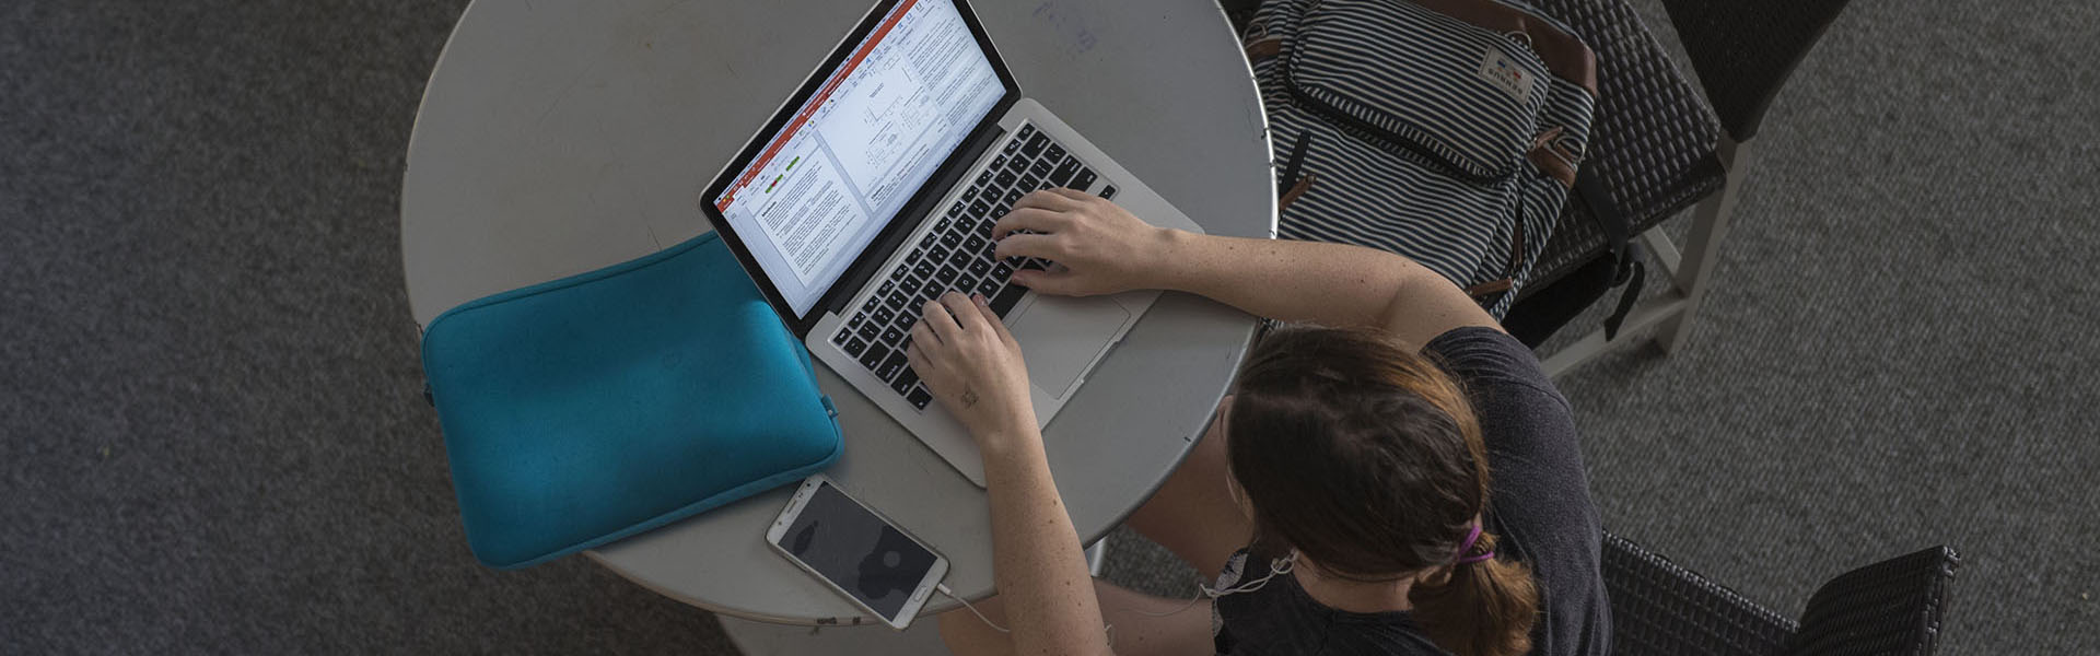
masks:
<instances>
[{"instance_id":1,"label":"woman's typing hand nearer the smartphone and teal sleeve","mask_svg":"<svg viewBox=\"0 0 2100 656\"><path fill-rule=\"evenodd\" d=\"M926 303L918 326L911 326L907 357L934 399L970 429L987 456L1018 439L1042 439L1021 343L985 296L947 292Z\"/></svg>"}]
</instances>

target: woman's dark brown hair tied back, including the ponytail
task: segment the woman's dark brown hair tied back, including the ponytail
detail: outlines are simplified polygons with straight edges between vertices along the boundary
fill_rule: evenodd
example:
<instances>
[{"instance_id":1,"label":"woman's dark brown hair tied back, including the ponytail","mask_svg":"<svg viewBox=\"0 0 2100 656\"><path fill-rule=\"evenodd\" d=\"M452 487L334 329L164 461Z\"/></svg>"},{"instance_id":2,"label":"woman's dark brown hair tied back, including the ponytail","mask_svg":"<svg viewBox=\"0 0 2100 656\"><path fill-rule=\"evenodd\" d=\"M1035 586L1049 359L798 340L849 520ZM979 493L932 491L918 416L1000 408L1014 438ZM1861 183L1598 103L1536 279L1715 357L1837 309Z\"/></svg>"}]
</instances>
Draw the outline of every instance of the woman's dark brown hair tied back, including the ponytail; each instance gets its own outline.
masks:
<instances>
[{"instance_id":1,"label":"woman's dark brown hair tied back, including the ponytail","mask_svg":"<svg viewBox=\"0 0 2100 656\"><path fill-rule=\"evenodd\" d=\"M1247 357L1226 460L1256 545L1298 549L1323 574L1413 585L1413 618L1460 656L1531 648L1531 570L1455 563L1487 507L1487 446L1460 385L1371 330L1285 326ZM1495 549L1480 534L1468 555Z\"/></svg>"}]
</instances>

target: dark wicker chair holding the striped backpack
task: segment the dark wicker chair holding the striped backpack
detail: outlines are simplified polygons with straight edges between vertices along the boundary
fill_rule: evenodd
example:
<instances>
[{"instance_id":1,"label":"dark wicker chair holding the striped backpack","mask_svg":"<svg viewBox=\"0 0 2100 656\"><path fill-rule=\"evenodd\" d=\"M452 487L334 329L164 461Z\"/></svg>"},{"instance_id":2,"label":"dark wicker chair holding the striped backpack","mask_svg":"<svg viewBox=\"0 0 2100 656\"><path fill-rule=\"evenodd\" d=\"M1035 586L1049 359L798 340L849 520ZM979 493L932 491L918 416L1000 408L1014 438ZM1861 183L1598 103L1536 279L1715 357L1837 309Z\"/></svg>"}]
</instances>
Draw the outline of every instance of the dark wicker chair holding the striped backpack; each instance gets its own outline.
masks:
<instances>
[{"instance_id":1,"label":"dark wicker chair holding the striped backpack","mask_svg":"<svg viewBox=\"0 0 2100 656\"><path fill-rule=\"evenodd\" d=\"M1728 231L1728 214L1751 164L1749 139L1787 76L1838 19L1844 0L1663 0L1712 105L1699 99L1623 0L1531 4L1573 25L1596 50L1600 99L1583 166L1598 175L1611 198L1569 202L1525 296L1554 296L1554 282L1571 275L1617 275L1609 259L1611 240L1594 221L1598 208L1625 217L1672 282L1667 294L1621 307L1623 324L1609 324L1550 355L1546 370L1560 374L1602 353L1617 332L1644 328L1657 328L1663 349L1676 351L1690 334L1720 240ZM1680 252L1657 225L1693 204L1699 208ZM1571 284L1560 290L1569 288L1602 286ZM1533 303L1531 309L1525 309L1529 299L1520 299L1512 313L1544 305L1548 317L1514 320L1531 320L1550 332L1596 301L1596 294Z\"/></svg>"}]
</instances>

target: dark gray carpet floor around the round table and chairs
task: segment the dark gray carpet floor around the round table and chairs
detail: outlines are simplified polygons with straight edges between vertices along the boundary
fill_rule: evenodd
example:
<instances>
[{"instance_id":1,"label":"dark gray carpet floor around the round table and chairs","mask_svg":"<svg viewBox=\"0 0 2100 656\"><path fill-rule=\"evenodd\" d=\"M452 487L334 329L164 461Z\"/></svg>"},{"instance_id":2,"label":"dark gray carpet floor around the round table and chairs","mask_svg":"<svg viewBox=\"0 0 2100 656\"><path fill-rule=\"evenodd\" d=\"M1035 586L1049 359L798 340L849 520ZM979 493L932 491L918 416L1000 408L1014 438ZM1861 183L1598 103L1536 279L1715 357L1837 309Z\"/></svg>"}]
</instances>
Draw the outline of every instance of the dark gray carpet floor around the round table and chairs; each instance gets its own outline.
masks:
<instances>
[{"instance_id":1,"label":"dark gray carpet floor around the round table and chairs","mask_svg":"<svg viewBox=\"0 0 2100 656\"><path fill-rule=\"evenodd\" d=\"M0 652L733 652L588 561L466 553L397 229L462 6L0 4ZM1947 654L2100 650L2094 34L1854 2L1690 347L1560 381L1611 530L1785 614L1945 542ZM1186 589L1128 536L1111 576Z\"/></svg>"}]
</instances>

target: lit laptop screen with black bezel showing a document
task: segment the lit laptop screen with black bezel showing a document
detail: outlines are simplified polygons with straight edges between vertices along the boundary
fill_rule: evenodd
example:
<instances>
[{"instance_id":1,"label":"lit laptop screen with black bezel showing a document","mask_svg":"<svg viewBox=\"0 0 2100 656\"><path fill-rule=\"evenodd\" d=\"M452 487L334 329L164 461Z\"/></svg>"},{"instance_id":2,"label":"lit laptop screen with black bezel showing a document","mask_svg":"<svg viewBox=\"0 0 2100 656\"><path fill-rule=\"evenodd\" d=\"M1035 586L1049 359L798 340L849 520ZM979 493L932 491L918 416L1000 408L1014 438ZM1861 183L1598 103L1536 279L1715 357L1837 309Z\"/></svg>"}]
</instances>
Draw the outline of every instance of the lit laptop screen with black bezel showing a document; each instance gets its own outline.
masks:
<instances>
[{"instance_id":1,"label":"lit laptop screen with black bezel showing a document","mask_svg":"<svg viewBox=\"0 0 2100 656\"><path fill-rule=\"evenodd\" d=\"M953 0L897 2L708 202L808 315L1004 93Z\"/></svg>"}]
</instances>

